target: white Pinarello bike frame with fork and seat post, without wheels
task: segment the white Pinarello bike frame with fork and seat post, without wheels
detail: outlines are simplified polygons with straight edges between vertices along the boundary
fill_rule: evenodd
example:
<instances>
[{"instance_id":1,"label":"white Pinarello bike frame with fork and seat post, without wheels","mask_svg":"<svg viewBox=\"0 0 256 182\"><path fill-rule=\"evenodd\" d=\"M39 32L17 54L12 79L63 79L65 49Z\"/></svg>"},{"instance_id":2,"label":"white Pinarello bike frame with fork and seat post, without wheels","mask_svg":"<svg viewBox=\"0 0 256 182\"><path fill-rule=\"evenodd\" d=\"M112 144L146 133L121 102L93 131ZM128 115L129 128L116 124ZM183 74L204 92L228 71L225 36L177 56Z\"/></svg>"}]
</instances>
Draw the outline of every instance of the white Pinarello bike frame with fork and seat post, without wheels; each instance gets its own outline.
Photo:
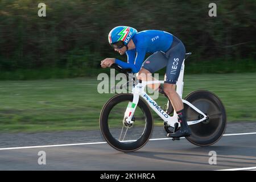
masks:
<instances>
[{"instance_id":1,"label":"white Pinarello bike frame with fork and seat post, without wheels","mask_svg":"<svg viewBox=\"0 0 256 182\"><path fill-rule=\"evenodd\" d=\"M179 94L180 98L182 98L182 93L183 93L183 76L184 76L184 68L185 68L185 59L183 60L183 63L181 65L181 70L180 70L180 75L179 78L176 82L176 92ZM168 115L158 104L156 104L156 102L154 100L152 100L152 98L150 96L148 96L148 94L144 91L144 88L146 87L146 85L150 85L150 84L162 84L164 83L164 81L142 81L139 82L137 85L133 86L133 102L129 102L129 105L126 108L125 111L125 115L123 117L123 122L127 122L127 123L133 123L133 121L131 120L133 118L133 114L134 111L137 107L139 98L141 97L144 101L147 102L147 104L152 108L152 110L154 110L156 112L156 114L159 115L160 118L163 119L164 122L168 123L168 126L174 127L175 123L179 123L177 122L177 113L176 111L174 111L174 115L170 116ZM195 107L194 105L192 105L190 102L183 100L184 104L187 104L188 106L190 106L193 110L197 111L197 113L200 113L201 115L203 115L204 117L196 120L196 121L188 121L188 125L194 125L196 123L199 123L201 121L204 121L205 119L207 119L207 115L205 115L202 111L200 111L199 109L197 109L197 107ZM168 101L168 105L171 104ZM180 123L179 123L180 125Z\"/></svg>"}]
</instances>

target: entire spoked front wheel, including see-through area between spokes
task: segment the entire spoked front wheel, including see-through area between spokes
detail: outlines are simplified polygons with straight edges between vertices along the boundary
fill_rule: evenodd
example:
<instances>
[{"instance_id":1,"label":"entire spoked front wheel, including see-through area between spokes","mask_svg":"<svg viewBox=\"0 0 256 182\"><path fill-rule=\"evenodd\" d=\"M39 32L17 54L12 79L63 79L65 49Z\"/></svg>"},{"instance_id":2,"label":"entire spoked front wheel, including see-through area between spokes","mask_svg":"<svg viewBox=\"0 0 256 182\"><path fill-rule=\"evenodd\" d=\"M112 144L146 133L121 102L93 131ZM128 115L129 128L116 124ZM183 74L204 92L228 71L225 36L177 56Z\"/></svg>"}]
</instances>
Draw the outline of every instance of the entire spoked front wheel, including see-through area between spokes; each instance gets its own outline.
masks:
<instances>
[{"instance_id":1,"label":"entire spoked front wheel, including see-through area between spokes","mask_svg":"<svg viewBox=\"0 0 256 182\"><path fill-rule=\"evenodd\" d=\"M141 98L131 119L133 124L123 122L126 107L132 101L133 94L117 94L106 102L100 114L100 129L106 142L123 152L143 147L153 129L151 111Z\"/></svg>"}]
</instances>

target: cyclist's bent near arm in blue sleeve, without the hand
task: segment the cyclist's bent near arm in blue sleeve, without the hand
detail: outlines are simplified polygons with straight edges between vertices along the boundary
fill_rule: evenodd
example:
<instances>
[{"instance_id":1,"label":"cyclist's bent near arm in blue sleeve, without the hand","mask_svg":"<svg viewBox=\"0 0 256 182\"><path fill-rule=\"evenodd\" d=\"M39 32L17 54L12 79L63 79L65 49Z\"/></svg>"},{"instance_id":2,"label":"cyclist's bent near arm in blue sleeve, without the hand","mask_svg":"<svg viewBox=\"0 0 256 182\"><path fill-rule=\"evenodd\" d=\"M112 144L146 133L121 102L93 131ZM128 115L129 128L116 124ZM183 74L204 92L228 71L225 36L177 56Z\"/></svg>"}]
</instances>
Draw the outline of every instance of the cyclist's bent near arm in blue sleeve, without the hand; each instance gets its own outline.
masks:
<instances>
[{"instance_id":1,"label":"cyclist's bent near arm in blue sleeve, without the hand","mask_svg":"<svg viewBox=\"0 0 256 182\"><path fill-rule=\"evenodd\" d=\"M133 73L138 73L139 70L141 69L145 55L146 55L146 48L137 48L137 55L133 59L133 61L129 59L129 63L125 63L121 60L115 59L115 63L117 63L123 69L130 68Z\"/></svg>"}]
</instances>

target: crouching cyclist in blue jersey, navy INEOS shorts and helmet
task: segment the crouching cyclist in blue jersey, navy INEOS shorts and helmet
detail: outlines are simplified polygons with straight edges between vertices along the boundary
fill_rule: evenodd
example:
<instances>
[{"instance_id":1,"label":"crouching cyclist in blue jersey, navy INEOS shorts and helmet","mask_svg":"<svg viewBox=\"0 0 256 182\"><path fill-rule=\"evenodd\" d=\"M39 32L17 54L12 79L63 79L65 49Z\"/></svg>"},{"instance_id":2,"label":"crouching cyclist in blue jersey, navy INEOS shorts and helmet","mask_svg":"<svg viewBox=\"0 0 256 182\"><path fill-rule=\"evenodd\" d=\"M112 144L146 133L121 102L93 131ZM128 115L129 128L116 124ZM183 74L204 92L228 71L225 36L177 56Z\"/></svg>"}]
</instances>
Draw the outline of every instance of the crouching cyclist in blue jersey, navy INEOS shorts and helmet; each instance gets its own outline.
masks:
<instances>
[{"instance_id":1,"label":"crouching cyclist in blue jersey, navy INEOS shorts and helmet","mask_svg":"<svg viewBox=\"0 0 256 182\"><path fill-rule=\"evenodd\" d=\"M184 44L176 36L166 31L144 30L138 32L135 28L128 26L113 28L109 32L109 44L120 55L126 53L127 63L115 58L106 58L101 61L102 68L116 63L124 69L130 68L133 73L138 73L138 78L142 80L147 80L146 78L155 80L151 77L151 73L167 67L163 90L159 84L157 88L159 92L163 91L168 96L181 125L180 130L168 136L172 138L189 137L191 130L185 118L183 102L175 90L185 56ZM148 52L153 54L144 61ZM141 75L147 76L144 78ZM151 88L154 89L154 85Z\"/></svg>"}]
</instances>

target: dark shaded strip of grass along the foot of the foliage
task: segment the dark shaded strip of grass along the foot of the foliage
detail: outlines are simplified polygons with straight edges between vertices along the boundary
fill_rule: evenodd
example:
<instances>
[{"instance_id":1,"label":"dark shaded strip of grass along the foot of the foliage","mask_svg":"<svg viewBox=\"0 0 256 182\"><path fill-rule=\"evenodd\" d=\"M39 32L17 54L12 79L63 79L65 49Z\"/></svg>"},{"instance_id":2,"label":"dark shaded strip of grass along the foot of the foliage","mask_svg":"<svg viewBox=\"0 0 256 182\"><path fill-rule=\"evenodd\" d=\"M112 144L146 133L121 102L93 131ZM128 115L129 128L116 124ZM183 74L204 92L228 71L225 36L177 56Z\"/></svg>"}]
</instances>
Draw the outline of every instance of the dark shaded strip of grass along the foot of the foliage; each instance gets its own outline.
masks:
<instances>
[{"instance_id":1,"label":"dark shaded strip of grass along the foot of the foliage","mask_svg":"<svg viewBox=\"0 0 256 182\"><path fill-rule=\"evenodd\" d=\"M191 58L193 55L191 56ZM120 57L119 59L122 59ZM0 58L1 60L1 58ZM79 60L81 61L81 60ZM256 64L254 59L239 59L239 60L201 60L193 61L188 58L186 62L187 74L208 74L208 73L255 73ZM200 69L199 69L200 68ZM95 77L100 73L110 74L109 69L100 69L100 63L98 65L88 65L84 61L81 61L81 65L74 67L45 67L37 69L15 69L13 71L7 71L1 69L0 65L0 81L3 80L43 80L43 79L63 79L63 78L76 78L76 77ZM161 75L166 73L166 68L159 71Z\"/></svg>"}]
</instances>

